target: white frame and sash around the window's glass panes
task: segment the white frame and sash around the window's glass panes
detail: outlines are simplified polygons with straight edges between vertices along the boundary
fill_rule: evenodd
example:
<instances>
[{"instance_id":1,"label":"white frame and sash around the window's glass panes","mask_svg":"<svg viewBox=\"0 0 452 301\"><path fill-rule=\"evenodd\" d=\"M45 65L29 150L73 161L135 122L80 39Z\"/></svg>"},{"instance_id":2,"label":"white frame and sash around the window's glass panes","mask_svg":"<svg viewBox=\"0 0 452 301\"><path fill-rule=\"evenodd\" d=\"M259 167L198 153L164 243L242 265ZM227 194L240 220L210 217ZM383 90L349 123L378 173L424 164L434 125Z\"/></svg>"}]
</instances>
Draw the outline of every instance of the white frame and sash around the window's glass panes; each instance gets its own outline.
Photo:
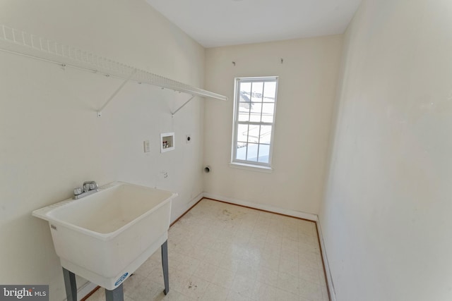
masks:
<instances>
[{"instance_id":1,"label":"white frame and sash around the window's glass panes","mask_svg":"<svg viewBox=\"0 0 452 301\"><path fill-rule=\"evenodd\" d=\"M275 82L275 106L273 109L273 122L254 122L254 121L239 121L239 102L240 102L240 91L239 84L240 82ZM265 84L264 84L265 85ZM257 171L271 171L271 162L273 155L273 141L274 141L274 133L275 133L275 118L276 118L276 100L278 98L278 76L266 76L266 77L253 77L253 78L234 78L234 121L233 121L233 129L232 129L232 152L231 152L231 167L237 168L247 168L254 169ZM261 112L262 114L262 112ZM261 115L262 116L262 115ZM249 161L249 160L239 160L237 158L237 131L239 128L239 124L248 124L248 125L271 125L271 137L270 137L270 147L268 153L268 163L258 162L258 161Z\"/></svg>"}]
</instances>

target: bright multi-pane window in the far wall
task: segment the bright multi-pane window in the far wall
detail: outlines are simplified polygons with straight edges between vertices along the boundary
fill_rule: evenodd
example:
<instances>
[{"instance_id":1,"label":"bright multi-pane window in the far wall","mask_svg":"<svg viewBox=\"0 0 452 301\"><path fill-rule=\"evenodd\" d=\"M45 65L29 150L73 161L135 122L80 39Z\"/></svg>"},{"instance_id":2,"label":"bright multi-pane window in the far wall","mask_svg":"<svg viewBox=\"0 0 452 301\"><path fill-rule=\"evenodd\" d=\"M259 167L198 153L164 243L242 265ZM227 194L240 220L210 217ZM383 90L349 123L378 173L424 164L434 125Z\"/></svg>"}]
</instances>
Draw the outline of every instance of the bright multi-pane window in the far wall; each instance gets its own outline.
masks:
<instances>
[{"instance_id":1,"label":"bright multi-pane window in the far wall","mask_svg":"<svg viewBox=\"0 0 452 301\"><path fill-rule=\"evenodd\" d=\"M278 78L236 78L232 164L271 166Z\"/></svg>"}]
</instances>

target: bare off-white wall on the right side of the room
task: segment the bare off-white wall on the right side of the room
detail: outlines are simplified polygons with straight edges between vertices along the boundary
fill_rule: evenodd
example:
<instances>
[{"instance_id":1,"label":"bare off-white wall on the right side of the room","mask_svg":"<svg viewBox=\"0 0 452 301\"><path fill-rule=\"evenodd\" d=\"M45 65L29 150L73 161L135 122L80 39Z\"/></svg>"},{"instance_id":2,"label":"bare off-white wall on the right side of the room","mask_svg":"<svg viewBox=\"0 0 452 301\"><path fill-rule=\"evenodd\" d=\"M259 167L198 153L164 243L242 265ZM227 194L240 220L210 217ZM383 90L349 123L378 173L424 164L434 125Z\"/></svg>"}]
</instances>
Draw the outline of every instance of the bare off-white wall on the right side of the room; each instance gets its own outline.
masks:
<instances>
[{"instance_id":1,"label":"bare off-white wall on the right side of the room","mask_svg":"<svg viewBox=\"0 0 452 301\"><path fill-rule=\"evenodd\" d=\"M452 2L364 0L320 221L337 300L452 300Z\"/></svg>"}]
</instances>

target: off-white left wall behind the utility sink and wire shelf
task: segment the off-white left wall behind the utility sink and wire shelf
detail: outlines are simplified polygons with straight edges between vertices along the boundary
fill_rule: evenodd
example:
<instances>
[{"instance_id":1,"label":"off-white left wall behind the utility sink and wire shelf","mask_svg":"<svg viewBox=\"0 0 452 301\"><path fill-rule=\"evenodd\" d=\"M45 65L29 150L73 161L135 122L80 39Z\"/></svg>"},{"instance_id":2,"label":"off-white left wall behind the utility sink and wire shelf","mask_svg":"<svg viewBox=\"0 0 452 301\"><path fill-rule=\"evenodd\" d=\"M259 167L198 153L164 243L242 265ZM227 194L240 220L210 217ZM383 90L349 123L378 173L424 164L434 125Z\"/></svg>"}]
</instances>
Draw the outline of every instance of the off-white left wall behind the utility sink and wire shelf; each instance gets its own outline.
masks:
<instances>
[{"instance_id":1,"label":"off-white left wall behind the utility sink and wire shelf","mask_svg":"<svg viewBox=\"0 0 452 301\"><path fill-rule=\"evenodd\" d=\"M204 49L141 0L0 1L1 23L202 87ZM47 223L31 212L84 180L179 192L172 220L203 192L203 100L0 52L0 283L64 285ZM160 154L160 133L176 149ZM185 144L185 135L192 135ZM143 153L143 140L151 152ZM167 171L168 178L160 176Z\"/></svg>"}]
</instances>

